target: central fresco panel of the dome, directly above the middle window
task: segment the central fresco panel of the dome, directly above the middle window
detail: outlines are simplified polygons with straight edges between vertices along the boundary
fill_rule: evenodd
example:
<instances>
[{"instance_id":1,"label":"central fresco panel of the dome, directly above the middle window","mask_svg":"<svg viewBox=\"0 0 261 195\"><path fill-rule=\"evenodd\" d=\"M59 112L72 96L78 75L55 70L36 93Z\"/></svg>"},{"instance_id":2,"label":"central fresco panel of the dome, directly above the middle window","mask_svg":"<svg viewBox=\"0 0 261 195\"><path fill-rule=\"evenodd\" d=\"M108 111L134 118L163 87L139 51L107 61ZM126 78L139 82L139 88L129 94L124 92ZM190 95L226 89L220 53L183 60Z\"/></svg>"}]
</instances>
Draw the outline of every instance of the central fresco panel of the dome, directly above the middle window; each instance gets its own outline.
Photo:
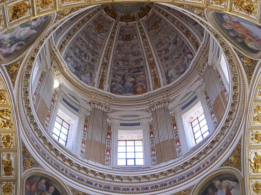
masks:
<instances>
[{"instance_id":1,"label":"central fresco panel of the dome, directly above the middle window","mask_svg":"<svg viewBox=\"0 0 261 195\"><path fill-rule=\"evenodd\" d=\"M114 94L137 95L147 92L145 66L135 25L121 25L112 67Z\"/></svg>"}]
</instances>

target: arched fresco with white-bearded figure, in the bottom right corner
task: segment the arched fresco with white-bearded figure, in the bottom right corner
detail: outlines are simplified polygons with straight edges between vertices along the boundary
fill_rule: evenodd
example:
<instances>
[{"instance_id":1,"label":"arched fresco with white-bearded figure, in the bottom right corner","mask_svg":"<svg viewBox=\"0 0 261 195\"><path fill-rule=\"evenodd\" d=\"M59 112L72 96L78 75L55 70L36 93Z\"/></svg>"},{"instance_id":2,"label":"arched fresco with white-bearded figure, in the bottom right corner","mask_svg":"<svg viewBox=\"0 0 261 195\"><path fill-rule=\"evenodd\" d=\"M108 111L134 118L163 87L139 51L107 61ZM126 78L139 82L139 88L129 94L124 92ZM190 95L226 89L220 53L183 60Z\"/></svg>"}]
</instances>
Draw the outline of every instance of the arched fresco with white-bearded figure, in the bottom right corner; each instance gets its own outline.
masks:
<instances>
[{"instance_id":1,"label":"arched fresco with white-bearded figure, in the bottom right corner","mask_svg":"<svg viewBox=\"0 0 261 195\"><path fill-rule=\"evenodd\" d=\"M208 181L200 190L200 195L239 195L239 181L230 174L219 175Z\"/></svg>"}]
</instances>

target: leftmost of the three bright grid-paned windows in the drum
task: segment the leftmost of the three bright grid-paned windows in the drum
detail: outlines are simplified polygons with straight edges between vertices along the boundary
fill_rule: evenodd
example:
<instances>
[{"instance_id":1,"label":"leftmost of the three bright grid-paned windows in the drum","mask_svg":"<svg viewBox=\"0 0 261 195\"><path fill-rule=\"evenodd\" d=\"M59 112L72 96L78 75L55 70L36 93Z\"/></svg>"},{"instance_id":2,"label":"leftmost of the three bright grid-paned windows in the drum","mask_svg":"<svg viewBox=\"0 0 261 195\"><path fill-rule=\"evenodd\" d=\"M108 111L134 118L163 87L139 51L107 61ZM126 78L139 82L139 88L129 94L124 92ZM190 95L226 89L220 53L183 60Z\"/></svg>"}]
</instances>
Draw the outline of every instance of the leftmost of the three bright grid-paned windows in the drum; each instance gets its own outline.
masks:
<instances>
[{"instance_id":1,"label":"leftmost of the three bright grid-paned windows in the drum","mask_svg":"<svg viewBox=\"0 0 261 195\"><path fill-rule=\"evenodd\" d=\"M53 137L62 145L66 145L69 126L70 125L63 119L61 119L59 116L56 116L53 127Z\"/></svg>"}]
</instances>

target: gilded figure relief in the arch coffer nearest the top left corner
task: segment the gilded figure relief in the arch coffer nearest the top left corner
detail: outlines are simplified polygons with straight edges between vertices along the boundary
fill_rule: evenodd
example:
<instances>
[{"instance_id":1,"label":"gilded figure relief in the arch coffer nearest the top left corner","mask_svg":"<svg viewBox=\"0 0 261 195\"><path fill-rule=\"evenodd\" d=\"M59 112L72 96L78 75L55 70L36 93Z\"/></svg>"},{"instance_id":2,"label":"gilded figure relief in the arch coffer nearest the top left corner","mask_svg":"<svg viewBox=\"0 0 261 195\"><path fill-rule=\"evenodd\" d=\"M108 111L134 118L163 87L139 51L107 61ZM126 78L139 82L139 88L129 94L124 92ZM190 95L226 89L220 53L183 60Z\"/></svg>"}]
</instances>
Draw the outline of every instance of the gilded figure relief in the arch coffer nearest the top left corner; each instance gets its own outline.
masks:
<instances>
[{"instance_id":1,"label":"gilded figure relief in the arch coffer nearest the top left corner","mask_svg":"<svg viewBox=\"0 0 261 195\"><path fill-rule=\"evenodd\" d=\"M27 0L25 1L20 1L17 2L13 5L11 5L8 10L9 10L9 17L10 17L10 21L12 21L13 19L18 19L19 17L23 16L26 14L26 12L28 11L28 8L33 7L32 5L28 5Z\"/></svg>"}]
</instances>

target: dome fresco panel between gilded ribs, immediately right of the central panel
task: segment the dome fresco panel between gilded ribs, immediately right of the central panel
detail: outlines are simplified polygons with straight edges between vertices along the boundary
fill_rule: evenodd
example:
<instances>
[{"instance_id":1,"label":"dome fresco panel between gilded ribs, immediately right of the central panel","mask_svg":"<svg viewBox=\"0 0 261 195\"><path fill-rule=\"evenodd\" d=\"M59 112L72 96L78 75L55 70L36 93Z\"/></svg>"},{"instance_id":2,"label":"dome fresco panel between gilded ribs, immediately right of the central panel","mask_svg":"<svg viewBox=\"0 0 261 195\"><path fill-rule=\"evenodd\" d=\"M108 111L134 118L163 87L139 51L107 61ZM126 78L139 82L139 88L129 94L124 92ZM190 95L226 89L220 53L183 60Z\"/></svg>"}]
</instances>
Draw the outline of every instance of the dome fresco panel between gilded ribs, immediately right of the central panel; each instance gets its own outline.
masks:
<instances>
[{"instance_id":1,"label":"dome fresco panel between gilded ribs, immediately right of the central panel","mask_svg":"<svg viewBox=\"0 0 261 195\"><path fill-rule=\"evenodd\" d=\"M167 84L178 79L194 58L181 36L154 12L143 21L162 64Z\"/></svg>"}]
</instances>

